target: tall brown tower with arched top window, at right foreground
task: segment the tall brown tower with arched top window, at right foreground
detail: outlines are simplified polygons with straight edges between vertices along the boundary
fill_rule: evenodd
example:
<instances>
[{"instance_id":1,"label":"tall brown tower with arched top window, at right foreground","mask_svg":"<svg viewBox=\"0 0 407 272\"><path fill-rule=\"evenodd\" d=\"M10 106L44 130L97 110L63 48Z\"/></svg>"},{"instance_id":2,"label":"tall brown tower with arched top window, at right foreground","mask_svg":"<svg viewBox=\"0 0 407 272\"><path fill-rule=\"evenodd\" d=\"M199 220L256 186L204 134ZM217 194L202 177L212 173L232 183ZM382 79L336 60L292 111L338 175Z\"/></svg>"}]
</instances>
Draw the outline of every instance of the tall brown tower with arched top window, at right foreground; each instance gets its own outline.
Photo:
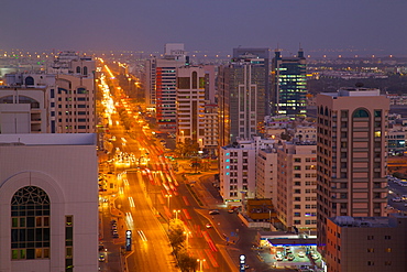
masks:
<instances>
[{"instance_id":1,"label":"tall brown tower with arched top window, at right foreground","mask_svg":"<svg viewBox=\"0 0 407 272\"><path fill-rule=\"evenodd\" d=\"M341 88L317 96L318 247L327 220L385 216L389 101L378 89Z\"/></svg>"}]
</instances>

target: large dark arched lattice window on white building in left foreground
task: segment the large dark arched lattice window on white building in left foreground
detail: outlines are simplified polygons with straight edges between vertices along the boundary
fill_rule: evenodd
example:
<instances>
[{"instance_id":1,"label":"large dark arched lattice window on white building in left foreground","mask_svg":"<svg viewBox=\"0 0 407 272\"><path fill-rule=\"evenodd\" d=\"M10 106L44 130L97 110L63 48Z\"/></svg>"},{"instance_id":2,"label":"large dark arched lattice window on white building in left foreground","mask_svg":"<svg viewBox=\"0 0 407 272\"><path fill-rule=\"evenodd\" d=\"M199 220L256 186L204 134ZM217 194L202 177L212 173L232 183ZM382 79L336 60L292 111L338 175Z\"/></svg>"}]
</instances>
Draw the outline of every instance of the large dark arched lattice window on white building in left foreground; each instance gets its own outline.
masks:
<instances>
[{"instance_id":1,"label":"large dark arched lattice window on white building in left foreground","mask_svg":"<svg viewBox=\"0 0 407 272\"><path fill-rule=\"evenodd\" d=\"M36 186L11 198L11 259L50 259L50 197Z\"/></svg>"}]
</instances>

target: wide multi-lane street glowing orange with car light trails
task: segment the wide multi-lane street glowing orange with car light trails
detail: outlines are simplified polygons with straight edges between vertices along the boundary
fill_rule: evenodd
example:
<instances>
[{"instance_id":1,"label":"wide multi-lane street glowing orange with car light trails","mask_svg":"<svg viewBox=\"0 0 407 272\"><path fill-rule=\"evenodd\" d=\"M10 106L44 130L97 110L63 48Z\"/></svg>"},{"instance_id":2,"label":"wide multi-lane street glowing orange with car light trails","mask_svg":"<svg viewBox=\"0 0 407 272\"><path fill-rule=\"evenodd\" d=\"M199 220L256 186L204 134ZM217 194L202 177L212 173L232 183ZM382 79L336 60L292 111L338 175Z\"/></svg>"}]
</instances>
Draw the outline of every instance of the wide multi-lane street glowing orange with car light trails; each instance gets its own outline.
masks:
<instances>
[{"instance_id":1,"label":"wide multi-lane street glowing orange with car light trails","mask_svg":"<svg viewBox=\"0 0 407 272\"><path fill-rule=\"evenodd\" d=\"M116 214L110 208L102 211L103 237L109 240L112 219L118 221L119 232L113 243L124 244L125 230L132 231L132 251L122 257L119 268L128 271L152 271L152 268L178 271L167 237L169 220L177 218L184 222L186 249L197 260L199 269L232 271L230 266L234 264L224 250L229 233L221 233L218 229L220 224L227 222L222 222L221 216L217 216L218 220L209 216L208 209L199 207L183 178L173 172L163 155L162 145L152 137L142 117L132 115L133 107L120 101L118 96L111 98L116 105L119 102L125 107L134 119L131 128L125 129L117 111L111 111L108 117L109 138L114 139L111 140L109 170L113 170L118 194L103 204L117 208ZM110 260L108 257L107 263L111 263L112 257ZM102 265L106 271L116 271L107 263Z\"/></svg>"}]
</instances>

